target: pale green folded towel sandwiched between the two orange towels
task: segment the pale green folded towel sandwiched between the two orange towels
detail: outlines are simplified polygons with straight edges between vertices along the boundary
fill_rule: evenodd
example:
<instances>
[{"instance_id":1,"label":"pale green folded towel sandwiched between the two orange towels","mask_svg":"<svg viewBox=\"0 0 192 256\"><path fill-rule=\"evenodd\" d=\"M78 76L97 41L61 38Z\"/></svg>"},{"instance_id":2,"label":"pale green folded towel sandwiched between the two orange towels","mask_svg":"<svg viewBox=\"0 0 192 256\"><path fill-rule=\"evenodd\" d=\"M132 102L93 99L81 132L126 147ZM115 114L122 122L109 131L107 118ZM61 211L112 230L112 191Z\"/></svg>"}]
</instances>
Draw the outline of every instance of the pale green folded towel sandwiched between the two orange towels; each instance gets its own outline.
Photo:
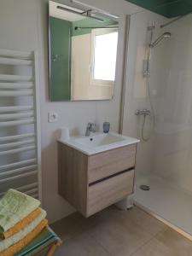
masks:
<instances>
[{"instance_id":1,"label":"pale green folded towel sandwiched between the two orange towels","mask_svg":"<svg viewBox=\"0 0 192 256\"><path fill-rule=\"evenodd\" d=\"M24 229L20 230L20 232L16 233L14 236L9 236L9 238L0 241L0 252L14 245L16 242L23 239L27 234L31 233L32 230L34 230L45 217L46 212L41 209L41 213L38 215L38 217L35 218L30 224L26 225Z\"/></svg>"}]
</instances>

